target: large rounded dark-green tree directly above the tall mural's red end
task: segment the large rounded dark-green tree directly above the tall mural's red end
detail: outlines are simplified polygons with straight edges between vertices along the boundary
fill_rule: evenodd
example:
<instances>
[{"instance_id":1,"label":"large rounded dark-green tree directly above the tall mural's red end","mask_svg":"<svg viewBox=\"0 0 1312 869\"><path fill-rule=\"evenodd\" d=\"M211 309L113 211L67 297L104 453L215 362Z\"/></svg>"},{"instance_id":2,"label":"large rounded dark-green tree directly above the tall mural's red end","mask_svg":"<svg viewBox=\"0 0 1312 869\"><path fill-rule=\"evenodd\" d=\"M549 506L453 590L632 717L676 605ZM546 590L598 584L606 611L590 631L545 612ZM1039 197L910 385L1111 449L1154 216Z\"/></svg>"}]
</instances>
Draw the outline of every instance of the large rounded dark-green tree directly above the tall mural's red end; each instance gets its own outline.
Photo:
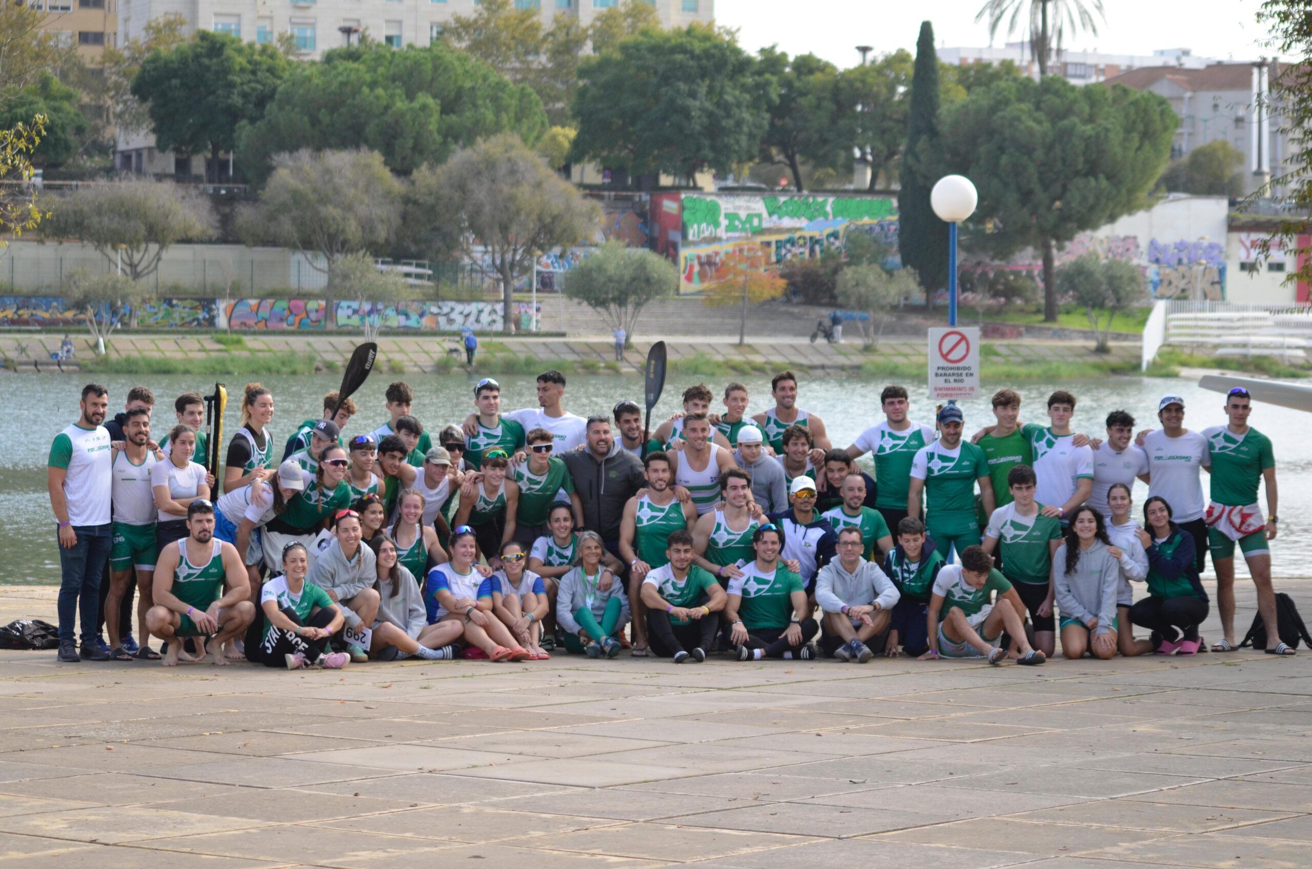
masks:
<instances>
[{"instance_id":1,"label":"large rounded dark-green tree directly above the tall mural's red end","mask_svg":"<svg viewBox=\"0 0 1312 869\"><path fill-rule=\"evenodd\" d=\"M572 156L631 175L729 173L769 125L754 62L711 28L647 30L579 68Z\"/></svg>"}]
</instances>

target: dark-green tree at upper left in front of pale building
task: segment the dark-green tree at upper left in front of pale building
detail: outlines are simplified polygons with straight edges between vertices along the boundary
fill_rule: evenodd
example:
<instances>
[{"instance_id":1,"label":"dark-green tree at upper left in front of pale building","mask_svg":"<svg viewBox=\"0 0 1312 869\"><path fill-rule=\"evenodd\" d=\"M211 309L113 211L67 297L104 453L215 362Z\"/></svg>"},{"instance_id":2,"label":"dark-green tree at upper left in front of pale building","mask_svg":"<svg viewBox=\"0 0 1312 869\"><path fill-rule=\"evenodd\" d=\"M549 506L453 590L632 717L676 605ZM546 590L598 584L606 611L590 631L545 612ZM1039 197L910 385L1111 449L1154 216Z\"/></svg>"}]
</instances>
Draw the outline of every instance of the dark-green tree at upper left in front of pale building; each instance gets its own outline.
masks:
<instances>
[{"instance_id":1,"label":"dark-green tree at upper left in front of pale building","mask_svg":"<svg viewBox=\"0 0 1312 869\"><path fill-rule=\"evenodd\" d=\"M216 175L219 154L236 147L237 126L264 117L289 68L272 45L198 30L172 51L147 56L133 96L147 106L159 150L209 152L207 175Z\"/></svg>"}]
</instances>

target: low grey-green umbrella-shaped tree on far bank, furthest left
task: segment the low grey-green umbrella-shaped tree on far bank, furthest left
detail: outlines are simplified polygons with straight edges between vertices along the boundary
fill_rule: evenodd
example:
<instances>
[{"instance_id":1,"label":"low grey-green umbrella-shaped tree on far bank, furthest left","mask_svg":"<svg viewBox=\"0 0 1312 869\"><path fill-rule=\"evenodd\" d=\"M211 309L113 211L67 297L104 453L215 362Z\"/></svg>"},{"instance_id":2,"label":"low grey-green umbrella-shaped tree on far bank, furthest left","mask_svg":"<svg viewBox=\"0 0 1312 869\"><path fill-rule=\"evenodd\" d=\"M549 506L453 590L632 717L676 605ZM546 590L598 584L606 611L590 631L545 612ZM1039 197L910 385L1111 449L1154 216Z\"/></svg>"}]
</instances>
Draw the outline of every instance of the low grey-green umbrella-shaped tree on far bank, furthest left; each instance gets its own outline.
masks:
<instances>
[{"instance_id":1,"label":"low grey-green umbrella-shaped tree on far bank, furthest left","mask_svg":"<svg viewBox=\"0 0 1312 869\"><path fill-rule=\"evenodd\" d=\"M178 242L206 242L218 231L205 194L140 177L77 188L50 207L42 235L91 244L133 281L154 274Z\"/></svg>"}]
</instances>

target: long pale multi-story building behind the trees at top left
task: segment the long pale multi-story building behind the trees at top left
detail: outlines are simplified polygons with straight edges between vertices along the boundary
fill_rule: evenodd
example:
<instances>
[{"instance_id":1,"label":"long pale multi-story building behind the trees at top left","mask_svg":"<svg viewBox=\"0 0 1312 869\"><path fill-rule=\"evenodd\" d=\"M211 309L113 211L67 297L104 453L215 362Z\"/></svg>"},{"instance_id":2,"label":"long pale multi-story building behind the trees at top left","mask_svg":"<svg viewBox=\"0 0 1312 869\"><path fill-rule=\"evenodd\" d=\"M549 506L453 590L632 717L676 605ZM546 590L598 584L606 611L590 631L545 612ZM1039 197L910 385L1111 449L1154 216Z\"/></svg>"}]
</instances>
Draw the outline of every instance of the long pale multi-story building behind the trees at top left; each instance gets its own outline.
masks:
<instances>
[{"instance_id":1,"label":"long pale multi-story building behind the trees at top left","mask_svg":"<svg viewBox=\"0 0 1312 869\"><path fill-rule=\"evenodd\" d=\"M119 41L140 35L146 24L163 14L182 16L189 29L231 33L248 42L274 42L287 33L295 39L300 58L315 60L324 51L358 41L361 32L374 39L401 47L426 46L441 39L453 16L470 16L478 0L45 0L46 3L121 3ZM565 14L588 26L593 18L621 0L514 0L521 9L538 9L543 25ZM715 0L647 0L661 24L682 28L715 17ZM150 133L121 135L118 165L151 175L205 175L205 158L177 158L160 154ZM220 177L226 172L220 167Z\"/></svg>"}]
</instances>

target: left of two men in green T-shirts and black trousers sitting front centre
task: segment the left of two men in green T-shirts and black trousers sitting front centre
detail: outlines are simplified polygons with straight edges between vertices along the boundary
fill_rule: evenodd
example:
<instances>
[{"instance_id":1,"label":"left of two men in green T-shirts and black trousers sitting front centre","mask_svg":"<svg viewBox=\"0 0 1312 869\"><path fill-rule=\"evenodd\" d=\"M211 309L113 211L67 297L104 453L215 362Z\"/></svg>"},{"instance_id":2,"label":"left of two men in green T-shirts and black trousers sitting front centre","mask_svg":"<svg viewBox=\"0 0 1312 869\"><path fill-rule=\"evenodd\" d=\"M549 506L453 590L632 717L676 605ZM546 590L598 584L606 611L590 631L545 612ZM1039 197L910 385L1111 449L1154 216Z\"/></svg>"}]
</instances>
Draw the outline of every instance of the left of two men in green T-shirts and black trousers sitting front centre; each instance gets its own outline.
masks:
<instances>
[{"instance_id":1,"label":"left of two men in green T-shirts and black trousers sitting front centre","mask_svg":"<svg viewBox=\"0 0 1312 869\"><path fill-rule=\"evenodd\" d=\"M719 613L728 603L715 578L693 563L695 551L690 533L672 532L665 563L646 574L640 587L652 651L676 664L706 660L720 627Z\"/></svg>"}]
</instances>

